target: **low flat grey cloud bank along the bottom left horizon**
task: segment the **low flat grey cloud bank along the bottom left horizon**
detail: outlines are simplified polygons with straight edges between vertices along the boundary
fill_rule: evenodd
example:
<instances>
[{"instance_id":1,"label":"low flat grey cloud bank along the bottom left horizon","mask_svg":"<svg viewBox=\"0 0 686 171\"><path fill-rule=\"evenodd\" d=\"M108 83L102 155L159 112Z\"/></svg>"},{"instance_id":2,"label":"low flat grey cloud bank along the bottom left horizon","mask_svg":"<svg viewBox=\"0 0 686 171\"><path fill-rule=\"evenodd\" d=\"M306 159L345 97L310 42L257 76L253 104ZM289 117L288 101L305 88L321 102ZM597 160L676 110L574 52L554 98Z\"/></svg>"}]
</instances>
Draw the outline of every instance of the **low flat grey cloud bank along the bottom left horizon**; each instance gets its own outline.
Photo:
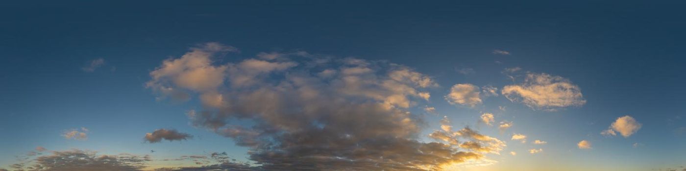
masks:
<instances>
[{"instance_id":1,"label":"low flat grey cloud bank along the bottom left horizon","mask_svg":"<svg viewBox=\"0 0 686 171\"><path fill-rule=\"evenodd\" d=\"M148 161L152 159L147 155L97 155L93 151L71 149L53 151L27 163L14 164L13 168L30 171L133 171L143 170Z\"/></svg>"}]
</instances>

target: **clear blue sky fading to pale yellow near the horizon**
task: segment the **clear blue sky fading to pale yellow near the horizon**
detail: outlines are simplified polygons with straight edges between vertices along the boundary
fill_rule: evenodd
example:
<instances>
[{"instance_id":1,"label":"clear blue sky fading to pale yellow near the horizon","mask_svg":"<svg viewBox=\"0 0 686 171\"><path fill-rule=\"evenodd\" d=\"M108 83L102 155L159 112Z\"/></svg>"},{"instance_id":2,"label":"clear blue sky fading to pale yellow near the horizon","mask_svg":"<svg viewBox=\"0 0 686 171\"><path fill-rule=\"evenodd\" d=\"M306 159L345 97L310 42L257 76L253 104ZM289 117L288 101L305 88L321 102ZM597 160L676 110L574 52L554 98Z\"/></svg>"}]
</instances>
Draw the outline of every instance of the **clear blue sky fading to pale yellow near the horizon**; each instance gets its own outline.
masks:
<instances>
[{"instance_id":1,"label":"clear blue sky fading to pale yellow near the horizon","mask_svg":"<svg viewBox=\"0 0 686 171\"><path fill-rule=\"evenodd\" d=\"M421 140L442 116L508 143L498 163L464 170L650 170L686 163L686 13L683 3L530 2L357 3L243 1L182 3L3 3L0 5L0 168L43 146L104 154L173 159L226 152L243 161L247 149L189 124L187 103L156 101L145 83L165 59L189 47L220 42L240 49L219 61L240 62L263 51L307 51L388 60L434 78ZM492 53L499 49L510 55ZM93 72L82 67L104 59ZM569 79L586 104L533 110L504 96L464 107L445 101L456 83L502 88L503 71L520 67ZM463 75L458 70L473 69ZM506 107L505 111L498 109ZM422 113L421 107L411 109ZM479 124L483 112L514 126ZM621 116L642 124L630 137L600 132ZM86 127L88 140L66 140ZM143 142L155 129L194 135L185 141ZM681 130L681 131L679 131ZM545 145L510 140L522 133ZM576 143L589 140L593 148ZM633 144L640 144L634 147ZM544 153L531 155L530 148ZM150 150L156 150L150 153ZM516 151L517 156L509 155ZM188 161L154 166L191 165Z\"/></svg>"}]
</instances>

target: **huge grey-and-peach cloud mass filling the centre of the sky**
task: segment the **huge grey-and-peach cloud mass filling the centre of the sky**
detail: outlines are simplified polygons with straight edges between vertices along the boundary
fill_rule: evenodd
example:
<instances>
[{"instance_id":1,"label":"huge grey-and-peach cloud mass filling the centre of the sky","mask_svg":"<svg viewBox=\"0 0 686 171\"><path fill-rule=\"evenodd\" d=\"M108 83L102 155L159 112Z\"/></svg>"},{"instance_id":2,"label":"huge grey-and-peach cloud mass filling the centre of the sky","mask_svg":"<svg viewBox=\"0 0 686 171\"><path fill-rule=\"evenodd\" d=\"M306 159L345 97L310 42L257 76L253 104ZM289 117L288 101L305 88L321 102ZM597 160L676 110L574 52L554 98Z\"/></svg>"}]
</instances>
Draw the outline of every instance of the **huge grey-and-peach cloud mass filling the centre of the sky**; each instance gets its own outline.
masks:
<instances>
[{"instance_id":1,"label":"huge grey-and-peach cloud mass filling the centre of the sky","mask_svg":"<svg viewBox=\"0 0 686 171\"><path fill-rule=\"evenodd\" d=\"M198 94L191 123L250 148L263 170L440 170L482 157L416 140L424 122L407 109L438 85L411 68L304 52L215 64L228 51L209 43L165 60L147 86Z\"/></svg>"}]
</instances>

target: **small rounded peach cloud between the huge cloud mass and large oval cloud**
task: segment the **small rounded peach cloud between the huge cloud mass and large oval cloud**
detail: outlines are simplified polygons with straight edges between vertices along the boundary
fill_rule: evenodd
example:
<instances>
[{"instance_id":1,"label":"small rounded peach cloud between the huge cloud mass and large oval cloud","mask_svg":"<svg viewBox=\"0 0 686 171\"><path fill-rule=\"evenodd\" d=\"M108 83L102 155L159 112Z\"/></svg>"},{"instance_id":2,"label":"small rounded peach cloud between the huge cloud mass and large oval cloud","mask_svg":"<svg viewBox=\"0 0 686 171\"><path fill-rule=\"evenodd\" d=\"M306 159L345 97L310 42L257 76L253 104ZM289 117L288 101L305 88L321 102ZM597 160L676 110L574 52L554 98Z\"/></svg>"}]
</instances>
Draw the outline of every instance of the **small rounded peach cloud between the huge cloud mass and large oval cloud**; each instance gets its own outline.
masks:
<instances>
[{"instance_id":1,"label":"small rounded peach cloud between the huge cloud mass and large oval cloud","mask_svg":"<svg viewBox=\"0 0 686 171\"><path fill-rule=\"evenodd\" d=\"M453 105L467 105L474 107L482 103L479 87L469 83L458 83L450 88L445 100Z\"/></svg>"}]
</instances>

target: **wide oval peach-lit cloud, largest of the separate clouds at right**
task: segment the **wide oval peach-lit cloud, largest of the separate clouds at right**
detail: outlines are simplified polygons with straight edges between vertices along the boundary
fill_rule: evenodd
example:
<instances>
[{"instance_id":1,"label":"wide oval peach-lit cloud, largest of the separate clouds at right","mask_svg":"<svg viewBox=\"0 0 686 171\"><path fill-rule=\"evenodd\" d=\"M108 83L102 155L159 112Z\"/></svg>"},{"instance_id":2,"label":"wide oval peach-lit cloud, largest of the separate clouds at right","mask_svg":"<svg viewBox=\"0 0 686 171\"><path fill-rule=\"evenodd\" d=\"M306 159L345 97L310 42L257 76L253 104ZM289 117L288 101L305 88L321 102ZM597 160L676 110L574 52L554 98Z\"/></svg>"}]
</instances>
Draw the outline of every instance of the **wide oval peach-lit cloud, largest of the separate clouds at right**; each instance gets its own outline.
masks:
<instances>
[{"instance_id":1,"label":"wide oval peach-lit cloud, largest of the separate clouds at right","mask_svg":"<svg viewBox=\"0 0 686 171\"><path fill-rule=\"evenodd\" d=\"M505 86L501 93L510 101L524 103L532 109L555 111L586 103L579 86L545 73L528 73L523 83Z\"/></svg>"}]
</instances>

